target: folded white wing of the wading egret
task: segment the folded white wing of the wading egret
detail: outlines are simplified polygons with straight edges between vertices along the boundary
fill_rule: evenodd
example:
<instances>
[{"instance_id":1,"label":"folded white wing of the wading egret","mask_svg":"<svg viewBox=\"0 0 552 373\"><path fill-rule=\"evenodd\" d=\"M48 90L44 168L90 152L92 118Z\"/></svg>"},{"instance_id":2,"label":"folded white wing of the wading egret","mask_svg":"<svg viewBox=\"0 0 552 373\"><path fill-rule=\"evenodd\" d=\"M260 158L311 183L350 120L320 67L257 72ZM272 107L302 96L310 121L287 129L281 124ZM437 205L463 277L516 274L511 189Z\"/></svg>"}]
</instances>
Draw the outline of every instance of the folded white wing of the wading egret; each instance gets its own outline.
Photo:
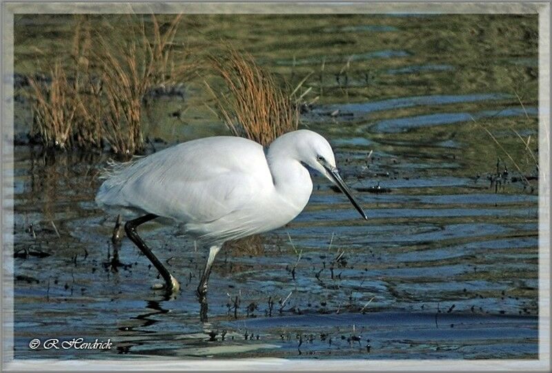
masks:
<instances>
[{"instance_id":1,"label":"folded white wing of the wading egret","mask_svg":"<svg viewBox=\"0 0 552 373\"><path fill-rule=\"evenodd\" d=\"M97 199L181 223L207 223L243 208L271 180L261 145L213 137L135 161L108 179Z\"/></svg>"}]
</instances>

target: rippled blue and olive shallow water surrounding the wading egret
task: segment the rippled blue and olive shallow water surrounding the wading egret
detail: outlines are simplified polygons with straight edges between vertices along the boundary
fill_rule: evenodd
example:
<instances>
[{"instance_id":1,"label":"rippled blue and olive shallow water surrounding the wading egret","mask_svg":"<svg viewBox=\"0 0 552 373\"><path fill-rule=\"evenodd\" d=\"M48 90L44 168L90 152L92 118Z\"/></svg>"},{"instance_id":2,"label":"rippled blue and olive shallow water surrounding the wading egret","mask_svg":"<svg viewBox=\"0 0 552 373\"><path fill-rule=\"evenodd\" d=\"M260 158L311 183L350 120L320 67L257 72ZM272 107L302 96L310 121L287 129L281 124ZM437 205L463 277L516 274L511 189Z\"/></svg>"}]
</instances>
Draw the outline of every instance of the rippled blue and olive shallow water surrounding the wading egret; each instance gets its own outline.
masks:
<instances>
[{"instance_id":1,"label":"rippled blue and olive shallow water surrounding the wading egret","mask_svg":"<svg viewBox=\"0 0 552 373\"><path fill-rule=\"evenodd\" d=\"M68 34L57 17L33 17L16 19L21 74L33 36L54 30L42 37L56 45ZM512 129L538 151L537 18L274 17L188 22L203 35L247 40L259 61L292 82L315 71L306 87L320 99L303 125L331 141L368 222L313 175L313 196L297 219L265 234L261 247L219 253L209 321L201 323L194 292L206 252L176 227L150 223L141 232L183 286L177 299L151 289L157 273L127 239L124 265L110 267L115 217L94 203L108 156L17 146L16 358L534 359L537 181L516 181L520 171L482 126L524 176L534 174ZM204 94L190 85L184 100L155 101L150 137L170 144L226 133L199 109ZM168 115L183 105L191 108L186 124ZM24 132L24 100L16 111ZM28 347L33 338L74 337L115 345Z\"/></svg>"}]
</instances>

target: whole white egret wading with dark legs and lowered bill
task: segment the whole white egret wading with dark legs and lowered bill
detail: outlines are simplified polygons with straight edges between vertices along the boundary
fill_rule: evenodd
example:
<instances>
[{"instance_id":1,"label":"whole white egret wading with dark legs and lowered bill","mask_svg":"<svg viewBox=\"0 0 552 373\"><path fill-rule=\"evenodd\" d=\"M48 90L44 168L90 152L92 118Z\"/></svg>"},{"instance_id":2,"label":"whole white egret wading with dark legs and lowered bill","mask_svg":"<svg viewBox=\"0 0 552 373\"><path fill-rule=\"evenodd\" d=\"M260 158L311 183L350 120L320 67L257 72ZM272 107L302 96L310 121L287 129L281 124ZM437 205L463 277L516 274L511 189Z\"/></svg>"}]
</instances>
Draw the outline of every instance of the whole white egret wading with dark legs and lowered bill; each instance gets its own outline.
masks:
<instances>
[{"instance_id":1,"label":"whole white egret wading with dark legs and lowered bill","mask_svg":"<svg viewBox=\"0 0 552 373\"><path fill-rule=\"evenodd\" d=\"M367 219L337 172L330 144L309 130L283 134L266 150L241 137L175 145L114 166L96 201L139 214L125 224L126 234L163 276L168 292L177 292L179 283L140 238L138 226L164 218L206 243L209 256L197 288L206 299L211 266L225 241L282 227L302 212L313 191L306 166L335 183Z\"/></svg>"}]
</instances>

